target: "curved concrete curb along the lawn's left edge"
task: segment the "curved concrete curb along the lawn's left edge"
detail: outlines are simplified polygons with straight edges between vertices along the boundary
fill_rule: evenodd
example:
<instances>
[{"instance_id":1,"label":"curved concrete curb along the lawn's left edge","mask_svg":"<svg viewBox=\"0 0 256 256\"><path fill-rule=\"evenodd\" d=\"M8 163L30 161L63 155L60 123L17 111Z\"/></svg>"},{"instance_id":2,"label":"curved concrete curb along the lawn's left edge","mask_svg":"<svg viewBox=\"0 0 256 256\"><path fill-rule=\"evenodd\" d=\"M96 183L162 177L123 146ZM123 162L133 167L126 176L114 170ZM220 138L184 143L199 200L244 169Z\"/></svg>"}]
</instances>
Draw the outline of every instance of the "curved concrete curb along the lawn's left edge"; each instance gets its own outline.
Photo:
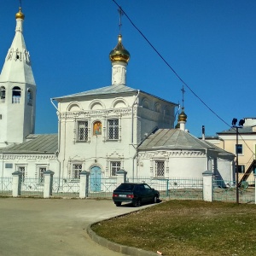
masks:
<instances>
[{"instance_id":1,"label":"curved concrete curb along the lawn's left edge","mask_svg":"<svg viewBox=\"0 0 256 256\"><path fill-rule=\"evenodd\" d=\"M93 223L93 224L97 224L97 223L99 223L99 222L96 222L96 223ZM136 248L136 247L123 246L123 245L120 245L119 243L109 241L108 239L103 238L102 236L98 236L90 228L93 224L90 224L87 227L86 232L90 236L90 239L92 241L95 241L96 243L98 243L102 247L107 247L109 250L112 250L112 251L117 252L117 253L123 253L123 254L126 254L126 255L134 255L134 256L155 256L155 255L158 255L157 253L144 251L143 249L139 249L139 248Z\"/></svg>"}]
</instances>

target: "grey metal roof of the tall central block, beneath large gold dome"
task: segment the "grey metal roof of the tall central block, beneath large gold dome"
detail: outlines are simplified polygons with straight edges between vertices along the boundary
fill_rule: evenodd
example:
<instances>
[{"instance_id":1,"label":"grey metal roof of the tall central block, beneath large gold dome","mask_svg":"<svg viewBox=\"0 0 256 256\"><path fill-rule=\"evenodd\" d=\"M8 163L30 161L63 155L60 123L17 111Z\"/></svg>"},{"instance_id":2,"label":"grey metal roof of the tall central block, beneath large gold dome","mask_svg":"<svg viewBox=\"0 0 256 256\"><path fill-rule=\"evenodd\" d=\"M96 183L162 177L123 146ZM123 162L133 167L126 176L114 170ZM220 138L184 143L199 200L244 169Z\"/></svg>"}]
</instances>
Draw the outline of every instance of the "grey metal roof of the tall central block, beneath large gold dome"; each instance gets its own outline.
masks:
<instances>
[{"instance_id":1,"label":"grey metal roof of the tall central block, beneath large gold dome","mask_svg":"<svg viewBox=\"0 0 256 256\"><path fill-rule=\"evenodd\" d=\"M168 102L158 96L154 96L143 90L133 89L124 84L113 84L113 85L108 85L108 86L93 89L93 90L85 90L83 92L79 92L79 93L75 93L67 96L55 97L53 98L53 100L60 101L61 99L70 99L70 98L84 97L84 96L103 96L103 95L112 95L112 94L114 95L114 94L121 94L121 93L137 93L138 91L140 91L140 93L147 94L148 96L153 96L155 98L158 98L161 101ZM172 103L177 106L176 103L173 103L173 102L169 102L169 103Z\"/></svg>"}]
</instances>

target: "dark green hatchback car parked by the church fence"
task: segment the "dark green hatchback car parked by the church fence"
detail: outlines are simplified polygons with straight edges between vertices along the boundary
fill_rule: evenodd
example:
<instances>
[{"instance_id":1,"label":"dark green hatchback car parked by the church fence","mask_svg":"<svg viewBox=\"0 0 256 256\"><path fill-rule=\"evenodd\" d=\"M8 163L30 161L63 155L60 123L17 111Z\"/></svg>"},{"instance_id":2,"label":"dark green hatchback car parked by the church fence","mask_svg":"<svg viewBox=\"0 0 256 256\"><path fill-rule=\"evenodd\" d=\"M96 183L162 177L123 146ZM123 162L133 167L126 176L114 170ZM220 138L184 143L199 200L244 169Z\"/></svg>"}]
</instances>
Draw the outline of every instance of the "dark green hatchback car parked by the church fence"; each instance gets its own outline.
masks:
<instances>
[{"instance_id":1,"label":"dark green hatchback car parked by the church fence","mask_svg":"<svg viewBox=\"0 0 256 256\"><path fill-rule=\"evenodd\" d=\"M134 207L140 207L146 201L156 203L159 197L159 191L150 188L147 183L121 183L113 190L112 198L117 207L122 202L131 202Z\"/></svg>"}]
</instances>

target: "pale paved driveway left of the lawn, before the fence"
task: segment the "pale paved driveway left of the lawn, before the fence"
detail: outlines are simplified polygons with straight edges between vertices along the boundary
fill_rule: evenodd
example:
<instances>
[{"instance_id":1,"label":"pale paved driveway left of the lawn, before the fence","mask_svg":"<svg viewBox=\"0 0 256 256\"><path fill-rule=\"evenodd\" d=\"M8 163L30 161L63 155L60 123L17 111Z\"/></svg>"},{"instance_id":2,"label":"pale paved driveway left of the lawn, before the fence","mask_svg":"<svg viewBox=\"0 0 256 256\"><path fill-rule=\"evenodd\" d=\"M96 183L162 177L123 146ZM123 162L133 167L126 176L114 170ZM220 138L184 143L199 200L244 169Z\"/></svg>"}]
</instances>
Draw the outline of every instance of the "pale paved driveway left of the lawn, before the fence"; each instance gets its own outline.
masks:
<instances>
[{"instance_id":1,"label":"pale paved driveway left of the lawn, before the fence","mask_svg":"<svg viewBox=\"0 0 256 256\"><path fill-rule=\"evenodd\" d=\"M86 228L136 210L103 200L0 198L0 255L122 255L91 241Z\"/></svg>"}]
</instances>

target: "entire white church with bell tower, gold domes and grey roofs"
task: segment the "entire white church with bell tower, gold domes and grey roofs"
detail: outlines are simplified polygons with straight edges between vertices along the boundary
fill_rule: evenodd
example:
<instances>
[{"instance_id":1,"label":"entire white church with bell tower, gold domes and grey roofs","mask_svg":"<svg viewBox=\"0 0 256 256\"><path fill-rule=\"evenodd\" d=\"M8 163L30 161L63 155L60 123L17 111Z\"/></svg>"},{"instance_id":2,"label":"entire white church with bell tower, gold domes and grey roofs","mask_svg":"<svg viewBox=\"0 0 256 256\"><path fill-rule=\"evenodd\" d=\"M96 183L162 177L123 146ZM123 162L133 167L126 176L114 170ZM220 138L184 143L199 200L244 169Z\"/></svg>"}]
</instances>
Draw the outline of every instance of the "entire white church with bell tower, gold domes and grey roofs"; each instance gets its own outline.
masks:
<instances>
[{"instance_id":1,"label":"entire white church with bell tower, gold domes and grey roofs","mask_svg":"<svg viewBox=\"0 0 256 256\"><path fill-rule=\"evenodd\" d=\"M121 35L109 54L112 83L52 98L58 134L34 134L37 89L24 18L20 9L0 75L1 177L20 171L22 178L40 179L50 170L70 180L82 171L114 178L123 169L129 177L202 177L209 170L219 179L234 179L234 154L186 131L184 110L174 128L176 103L126 85L130 54Z\"/></svg>"}]
</instances>

